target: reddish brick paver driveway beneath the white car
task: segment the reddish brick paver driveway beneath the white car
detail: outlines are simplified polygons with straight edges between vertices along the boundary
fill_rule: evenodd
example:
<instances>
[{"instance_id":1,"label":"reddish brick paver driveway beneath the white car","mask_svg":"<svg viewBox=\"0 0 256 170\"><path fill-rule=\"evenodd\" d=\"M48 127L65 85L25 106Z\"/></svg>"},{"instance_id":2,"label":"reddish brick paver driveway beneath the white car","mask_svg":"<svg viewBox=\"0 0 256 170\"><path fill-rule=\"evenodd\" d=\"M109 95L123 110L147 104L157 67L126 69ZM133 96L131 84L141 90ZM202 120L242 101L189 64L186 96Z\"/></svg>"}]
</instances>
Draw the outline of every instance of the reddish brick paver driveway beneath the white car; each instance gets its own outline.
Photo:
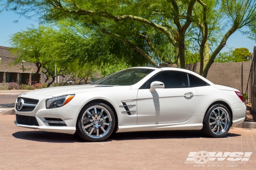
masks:
<instances>
[{"instance_id":1,"label":"reddish brick paver driveway beneath the white car","mask_svg":"<svg viewBox=\"0 0 256 170\"><path fill-rule=\"evenodd\" d=\"M128 132L97 143L19 128L14 120L0 115L0 169L256 169L254 129L232 128L219 139L200 131ZM247 164L185 164L198 151L253 154Z\"/></svg>"}]
</instances>

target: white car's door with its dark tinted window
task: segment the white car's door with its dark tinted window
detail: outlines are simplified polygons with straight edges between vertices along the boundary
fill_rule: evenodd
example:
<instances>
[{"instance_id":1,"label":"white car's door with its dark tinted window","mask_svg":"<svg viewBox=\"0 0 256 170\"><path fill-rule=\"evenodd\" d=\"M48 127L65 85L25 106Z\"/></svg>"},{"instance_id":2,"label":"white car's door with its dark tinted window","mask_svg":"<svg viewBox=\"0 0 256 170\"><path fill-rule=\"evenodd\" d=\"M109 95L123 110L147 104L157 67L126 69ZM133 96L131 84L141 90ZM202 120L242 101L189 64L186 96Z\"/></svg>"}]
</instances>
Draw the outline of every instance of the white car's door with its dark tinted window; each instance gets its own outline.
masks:
<instances>
[{"instance_id":1,"label":"white car's door with its dark tinted window","mask_svg":"<svg viewBox=\"0 0 256 170\"><path fill-rule=\"evenodd\" d=\"M163 89L150 92L150 84L162 82ZM137 124L174 123L188 120L197 106L198 94L189 87L188 74L161 71L148 80L137 95Z\"/></svg>"}]
</instances>

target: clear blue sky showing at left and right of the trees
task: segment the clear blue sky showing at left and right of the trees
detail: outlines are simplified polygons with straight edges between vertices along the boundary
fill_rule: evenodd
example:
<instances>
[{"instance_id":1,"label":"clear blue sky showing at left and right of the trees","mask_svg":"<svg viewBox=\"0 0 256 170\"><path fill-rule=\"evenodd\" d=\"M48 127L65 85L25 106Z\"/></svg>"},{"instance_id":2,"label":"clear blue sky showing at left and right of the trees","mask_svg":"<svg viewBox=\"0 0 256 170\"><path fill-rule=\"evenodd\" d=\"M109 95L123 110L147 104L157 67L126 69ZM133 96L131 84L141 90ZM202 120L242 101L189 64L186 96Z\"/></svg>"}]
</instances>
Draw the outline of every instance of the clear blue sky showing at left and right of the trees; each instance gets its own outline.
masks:
<instances>
[{"instance_id":1,"label":"clear blue sky showing at left and right of the trees","mask_svg":"<svg viewBox=\"0 0 256 170\"><path fill-rule=\"evenodd\" d=\"M19 20L18 23L14 23L15 20ZM14 34L20 30L25 30L26 27L30 27L30 24L38 26L37 21L31 19L19 18L14 12L3 11L0 13L0 46L10 47L8 42L9 35ZM228 29L228 28L227 28ZM244 29L242 31L245 31ZM228 51L228 48L242 48L245 47L253 52L253 48L256 46L255 41L247 38L246 35L242 35L240 31L234 32L227 40L226 47L221 52ZM228 47L228 48L227 48Z\"/></svg>"}]
</instances>

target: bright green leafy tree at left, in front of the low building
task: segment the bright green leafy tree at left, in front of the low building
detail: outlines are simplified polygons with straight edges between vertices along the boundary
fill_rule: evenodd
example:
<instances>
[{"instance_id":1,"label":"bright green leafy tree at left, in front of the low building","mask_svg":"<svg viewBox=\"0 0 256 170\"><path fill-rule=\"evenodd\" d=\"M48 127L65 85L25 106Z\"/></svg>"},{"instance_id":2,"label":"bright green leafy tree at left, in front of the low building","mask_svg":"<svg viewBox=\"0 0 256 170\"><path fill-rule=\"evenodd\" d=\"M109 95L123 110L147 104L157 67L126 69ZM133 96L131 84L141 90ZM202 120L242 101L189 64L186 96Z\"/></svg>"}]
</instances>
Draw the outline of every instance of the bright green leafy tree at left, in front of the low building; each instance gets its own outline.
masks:
<instances>
[{"instance_id":1,"label":"bright green leafy tree at left, in front of the low building","mask_svg":"<svg viewBox=\"0 0 256 170\"><path fill-rule=\"evenodd\" d=\"M10 41L14 48L12 50L18 54L16 62L24 60L37 64L38 72L42 69L47 77L46 81L51 80L47 87L55 81L57 76L65 78L78 75L86 78L82 70L86 73L89 67L79 62L84 52L84 39L75 35L74 32L62 28L39 26L15 33Z\"/></svg>"}]
</instances>

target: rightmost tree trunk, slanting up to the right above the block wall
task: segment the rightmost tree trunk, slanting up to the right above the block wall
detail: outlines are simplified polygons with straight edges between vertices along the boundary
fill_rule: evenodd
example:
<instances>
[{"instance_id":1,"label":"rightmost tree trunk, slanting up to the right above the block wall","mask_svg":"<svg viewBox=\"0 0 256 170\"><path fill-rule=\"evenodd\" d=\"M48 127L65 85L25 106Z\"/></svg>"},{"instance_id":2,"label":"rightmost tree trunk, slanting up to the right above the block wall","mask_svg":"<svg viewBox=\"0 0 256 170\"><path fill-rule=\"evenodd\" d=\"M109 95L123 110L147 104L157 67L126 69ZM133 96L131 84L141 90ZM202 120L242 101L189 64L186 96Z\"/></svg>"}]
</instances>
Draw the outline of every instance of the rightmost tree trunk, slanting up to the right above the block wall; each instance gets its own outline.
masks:
<instances>
[{"instance_id":1,"label":"rightmost tree trunk, slanting up to the right above the block wall","mask_svg":"<svg viewBox=\"0 0 256 170\"><path fill-rule=\"evenodd\" d=\"M221 40L221 43L219 43L218 47L214 50L214 52L212 53L211 57L209 58L209 62L206 64L206 66L205 66L205 68L203 70L202 76L204 78L207 77L208 70L210 69L212 63L214 62L215 57L226 46L226 42L227 42L228 38L230 37L230 35L232 35L238 29L234 25L236 25L236 24L234 23L233 26L228 30L228 32L223 36L223 38Z\"/></svg>"}]
</instances>

